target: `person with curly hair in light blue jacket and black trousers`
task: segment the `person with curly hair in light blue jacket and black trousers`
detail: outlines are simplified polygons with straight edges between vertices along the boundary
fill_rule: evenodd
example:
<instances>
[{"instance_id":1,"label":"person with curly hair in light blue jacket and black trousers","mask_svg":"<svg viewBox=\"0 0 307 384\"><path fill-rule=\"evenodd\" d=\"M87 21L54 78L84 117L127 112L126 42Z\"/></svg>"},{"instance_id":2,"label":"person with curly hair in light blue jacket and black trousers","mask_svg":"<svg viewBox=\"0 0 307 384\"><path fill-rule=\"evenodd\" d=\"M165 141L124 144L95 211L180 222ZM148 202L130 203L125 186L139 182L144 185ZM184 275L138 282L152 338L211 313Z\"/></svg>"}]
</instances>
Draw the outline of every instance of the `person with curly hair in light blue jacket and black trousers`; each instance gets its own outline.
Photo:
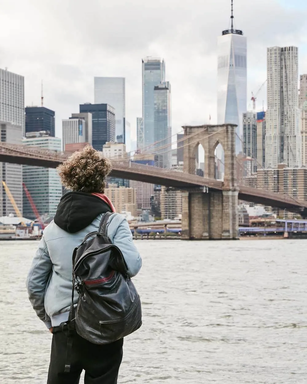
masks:
<instances>
[{"instance_id":1,"label":"person with curly hair in light blue jacket and black trousers","mask_svg":"<svg viewBox=\"0 0 307 384\"><path fill-rule=\"evenodd\" d=\"M70 192L62 196L53 221L43 231L26 281L33 309L53 334L47 384L76 384L83 369L87 384L117 383L123 339L97 345L74 334L71 369L66 373L67 336L61 327L68 320L71 305L74 248L88 233L98 230L106 212L115 212L104 195L105 179L111 169L111 162L91 146L74 152L58 166L61 182ZM107 236L121 250L128 275L135 276L142 259L122 215L115 213L109 217ZM78 295L74 300L76 305Z\"/></svg>"}]
</instances>

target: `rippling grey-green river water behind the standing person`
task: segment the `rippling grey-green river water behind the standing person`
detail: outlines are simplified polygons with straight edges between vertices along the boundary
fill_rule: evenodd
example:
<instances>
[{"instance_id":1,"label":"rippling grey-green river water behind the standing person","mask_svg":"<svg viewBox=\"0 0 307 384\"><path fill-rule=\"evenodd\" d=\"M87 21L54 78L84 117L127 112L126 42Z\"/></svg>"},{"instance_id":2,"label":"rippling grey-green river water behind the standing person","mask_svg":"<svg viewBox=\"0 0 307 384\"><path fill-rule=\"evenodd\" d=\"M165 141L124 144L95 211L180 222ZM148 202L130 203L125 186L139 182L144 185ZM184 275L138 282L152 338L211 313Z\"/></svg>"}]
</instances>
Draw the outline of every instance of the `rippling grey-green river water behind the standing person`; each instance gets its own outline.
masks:
<instances>
[{"instance_id":1,"label":"rippling grey-green river water behind the standing person","mask_svg":"<svg viewBox=\"0 0 307 384\"><path fill-rule=\"evenodd\" d=\"M136 244L144 318L119 383L307 382L307 240ZM52 336L25 290L37 245L0 242L1 384L46 383Z\"/></svg>"}]
</instances>

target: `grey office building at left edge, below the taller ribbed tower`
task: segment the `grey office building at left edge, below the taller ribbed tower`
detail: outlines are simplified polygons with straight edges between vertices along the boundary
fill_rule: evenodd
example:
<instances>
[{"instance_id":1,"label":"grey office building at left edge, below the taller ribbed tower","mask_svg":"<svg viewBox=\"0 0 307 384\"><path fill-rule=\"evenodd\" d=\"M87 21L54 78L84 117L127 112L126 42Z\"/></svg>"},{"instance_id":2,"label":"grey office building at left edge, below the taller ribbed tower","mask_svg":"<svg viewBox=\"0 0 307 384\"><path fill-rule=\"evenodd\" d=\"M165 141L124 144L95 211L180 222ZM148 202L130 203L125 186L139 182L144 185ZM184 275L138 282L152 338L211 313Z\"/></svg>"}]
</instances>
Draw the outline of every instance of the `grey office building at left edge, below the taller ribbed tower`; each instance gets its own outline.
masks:
<instances>
[{"instance_id":1,"label":"grey office building at left edge, below the taller ribbed tower","mask_svg":"<svg viewBox=\"0 0 307 384\"><path fill-rule=\"evenodd\" d=\"M12 125L9 122L0 121L0 142L21 144L21 141L21 125ZM18 209L22 213L22 166L19 164L0 162L0 216L8 216L10 214L16 216L1 180L7 184Z\"/></svg>"}]
</instances>

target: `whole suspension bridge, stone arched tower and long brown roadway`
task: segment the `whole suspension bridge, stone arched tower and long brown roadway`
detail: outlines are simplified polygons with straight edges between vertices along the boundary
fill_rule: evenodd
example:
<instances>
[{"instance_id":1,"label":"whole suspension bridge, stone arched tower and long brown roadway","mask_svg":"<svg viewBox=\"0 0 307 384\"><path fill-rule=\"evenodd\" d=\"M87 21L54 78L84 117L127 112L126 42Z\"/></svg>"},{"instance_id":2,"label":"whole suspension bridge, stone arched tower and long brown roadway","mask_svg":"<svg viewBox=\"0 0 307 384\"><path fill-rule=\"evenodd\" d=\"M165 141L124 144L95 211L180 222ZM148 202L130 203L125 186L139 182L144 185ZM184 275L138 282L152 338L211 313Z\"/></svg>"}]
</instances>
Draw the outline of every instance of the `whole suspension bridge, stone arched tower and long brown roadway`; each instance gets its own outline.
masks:
<instances>
[{"instance_id":1,"label":"whole suspension bridge, stone arched tower and long brown roadway","mask_svg":"<svg viewBox=\"0 0 307 384\"><path fill-rule=\"evenodd\" d=\"M238 200L297 212L307 217L307 201L237 183L235 125L185 126L183 172L114 159L112 176L182 190L182 237L238 238ZM195 148L205 149L204 177L195 174ZM215 149L224 149L224 181L215 180ZM71 153L0 142L0 162L56 168Z\"/></svg>"}]
</instances>

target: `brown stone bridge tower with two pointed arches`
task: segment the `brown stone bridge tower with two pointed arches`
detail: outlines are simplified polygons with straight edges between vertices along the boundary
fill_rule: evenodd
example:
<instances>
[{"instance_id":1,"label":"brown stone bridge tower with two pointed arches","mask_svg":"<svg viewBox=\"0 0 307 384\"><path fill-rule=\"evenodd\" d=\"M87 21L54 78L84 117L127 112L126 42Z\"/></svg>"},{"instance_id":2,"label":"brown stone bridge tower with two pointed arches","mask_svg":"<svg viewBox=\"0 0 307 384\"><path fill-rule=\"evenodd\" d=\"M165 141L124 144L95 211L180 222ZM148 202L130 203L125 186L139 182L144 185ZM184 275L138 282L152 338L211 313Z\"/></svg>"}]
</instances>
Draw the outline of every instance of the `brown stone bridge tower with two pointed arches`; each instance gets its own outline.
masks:
<instances>
[{"instance_id":1,"label":"brown stone bridge tower with two pointed arches","mask_svg":"<svg viewBox=\"0 0 307 384\"><path fill-rule=\"evenodd\" d=\"M186 190L182 196L183 239L238 239L238 188L236 184L236 125L184 126L183 172L195 174L196 154L205 150L204 177L215 179L215 149L224 149L222 190ZM190 144L190 145L188 145Z\"/></svg>"}]
</instances>

